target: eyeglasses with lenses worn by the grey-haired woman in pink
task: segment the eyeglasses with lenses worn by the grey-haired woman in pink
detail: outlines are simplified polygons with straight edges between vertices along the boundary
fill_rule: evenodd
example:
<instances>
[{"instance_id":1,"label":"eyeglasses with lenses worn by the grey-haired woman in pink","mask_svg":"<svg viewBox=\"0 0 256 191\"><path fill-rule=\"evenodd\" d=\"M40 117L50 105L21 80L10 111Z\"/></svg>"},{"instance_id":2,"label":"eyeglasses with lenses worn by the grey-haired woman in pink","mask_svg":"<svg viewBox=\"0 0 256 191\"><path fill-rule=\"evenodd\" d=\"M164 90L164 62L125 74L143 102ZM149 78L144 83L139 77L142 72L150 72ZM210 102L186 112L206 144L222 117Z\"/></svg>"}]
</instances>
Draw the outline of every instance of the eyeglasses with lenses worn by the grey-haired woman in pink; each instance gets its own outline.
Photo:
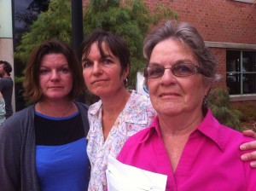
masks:
<instances>
[{"instance_id":1,"label":"eyeglasses with lenses worn by the grey-haired woman in pink","mask_svg":"<svg viewBox=\"0 0 256 191\"><path fill-rule=\"evenodd\" d=\"M146 78L161 78L166 69L171 69L172 74L176 77L188 77L195 73L202 73L201 68L195 66L192 63L177 63L172 65L172 67L163 67L160 65L155 65L152 67L146 67L144 70L144 77Z\"/></svg>"}]
</instances>

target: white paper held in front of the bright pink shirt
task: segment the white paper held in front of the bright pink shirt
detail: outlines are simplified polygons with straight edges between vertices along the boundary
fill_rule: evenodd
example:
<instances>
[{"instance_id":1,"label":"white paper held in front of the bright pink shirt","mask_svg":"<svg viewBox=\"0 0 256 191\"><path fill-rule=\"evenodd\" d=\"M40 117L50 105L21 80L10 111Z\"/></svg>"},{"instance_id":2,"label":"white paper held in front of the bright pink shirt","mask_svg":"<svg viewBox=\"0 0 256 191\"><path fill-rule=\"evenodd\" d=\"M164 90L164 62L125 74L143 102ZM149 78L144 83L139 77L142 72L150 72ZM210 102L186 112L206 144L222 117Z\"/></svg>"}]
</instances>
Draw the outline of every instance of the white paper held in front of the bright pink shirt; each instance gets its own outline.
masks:
<instances>
[{"instance_id":1,"label":"white paper held in front of the bright pink shirt","mask_svg":"<svg viewBox=\"0 0 256 191\"><path fill-rule=\"evenodd\" d=\"M167 176L120 163L108 156L108 191L165 191Z\"/></svg>"}]
</instances>

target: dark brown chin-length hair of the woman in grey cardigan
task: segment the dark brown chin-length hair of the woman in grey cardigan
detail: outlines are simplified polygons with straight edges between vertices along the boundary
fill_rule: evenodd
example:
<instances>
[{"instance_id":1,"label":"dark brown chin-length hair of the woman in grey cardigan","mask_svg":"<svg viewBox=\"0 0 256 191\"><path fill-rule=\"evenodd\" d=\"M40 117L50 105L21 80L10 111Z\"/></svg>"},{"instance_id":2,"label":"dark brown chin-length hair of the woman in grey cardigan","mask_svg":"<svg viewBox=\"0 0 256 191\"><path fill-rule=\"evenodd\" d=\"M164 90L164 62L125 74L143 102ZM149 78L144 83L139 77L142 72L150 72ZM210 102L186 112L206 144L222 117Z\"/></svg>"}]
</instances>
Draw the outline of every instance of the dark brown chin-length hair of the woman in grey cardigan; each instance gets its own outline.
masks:
<instances>
[{"instance_id":1,"label":"dark brown chin-length hair of the woman in grey cardigan","mask_svg":"<svg viewBox=\"0 0 256 191\"><path fill-rule=\"evenodd\" d=\"M42 98L42 91L39 85L39 68L44 55L52 53L64 55L67 58L68 67L73 73L73 89L69 93L69 99L73 100L84 90L82 65L73 49L61 40L51 39L33 49L26 63L23 96L30 102L36 102Z\"/></svg>"}]
</instances>

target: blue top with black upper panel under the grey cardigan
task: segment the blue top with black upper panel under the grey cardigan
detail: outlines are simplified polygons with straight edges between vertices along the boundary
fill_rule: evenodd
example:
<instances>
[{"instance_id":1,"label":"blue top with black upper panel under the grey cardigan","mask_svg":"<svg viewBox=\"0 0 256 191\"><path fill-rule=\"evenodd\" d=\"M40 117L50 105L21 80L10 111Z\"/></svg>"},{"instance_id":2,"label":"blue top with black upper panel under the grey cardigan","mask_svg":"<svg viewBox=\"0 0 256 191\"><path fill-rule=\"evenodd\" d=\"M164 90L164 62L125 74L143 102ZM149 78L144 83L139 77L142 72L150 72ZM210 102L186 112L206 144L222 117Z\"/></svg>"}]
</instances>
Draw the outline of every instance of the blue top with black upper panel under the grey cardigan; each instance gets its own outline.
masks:
<instances>
[{"instance_id":1,"label":"blue top with black upper panel under the grey cardigan","mask_svg":"<svg viewBox=\"0 0 256 191\"><path fill-rule=\"evenodd\" d=\"M41 190L87 190L89 159L80 114L51 118L36 112L35 126L36 165Z\"/></svg>"}]
</instances>

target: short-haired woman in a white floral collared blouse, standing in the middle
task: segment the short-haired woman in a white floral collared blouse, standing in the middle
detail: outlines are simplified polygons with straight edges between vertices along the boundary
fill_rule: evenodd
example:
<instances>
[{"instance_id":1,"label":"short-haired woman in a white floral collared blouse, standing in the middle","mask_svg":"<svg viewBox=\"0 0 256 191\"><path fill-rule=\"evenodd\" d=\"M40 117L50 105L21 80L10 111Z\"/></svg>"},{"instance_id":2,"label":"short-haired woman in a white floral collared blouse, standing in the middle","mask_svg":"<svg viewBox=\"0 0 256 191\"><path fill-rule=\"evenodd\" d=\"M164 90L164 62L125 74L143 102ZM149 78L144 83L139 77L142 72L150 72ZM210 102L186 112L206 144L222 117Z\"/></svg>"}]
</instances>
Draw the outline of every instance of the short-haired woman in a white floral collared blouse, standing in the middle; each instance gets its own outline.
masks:
<instances>
[{"instance_id":1,"label":"short-haired woman in a white floral collared blouse, standing in the middle","mask_svg":"<svg viewBox=\"0 0 256 191\"><path fill-rule=\"evenodd\" d=\"M147 96L126 90L130 51L122 38L96 29L81 44L84 81L101 98L88 111L89 190L106 188L108 154L119 154L128 137L143 130L155 112Z\"/></svg>"}]
</instances>

